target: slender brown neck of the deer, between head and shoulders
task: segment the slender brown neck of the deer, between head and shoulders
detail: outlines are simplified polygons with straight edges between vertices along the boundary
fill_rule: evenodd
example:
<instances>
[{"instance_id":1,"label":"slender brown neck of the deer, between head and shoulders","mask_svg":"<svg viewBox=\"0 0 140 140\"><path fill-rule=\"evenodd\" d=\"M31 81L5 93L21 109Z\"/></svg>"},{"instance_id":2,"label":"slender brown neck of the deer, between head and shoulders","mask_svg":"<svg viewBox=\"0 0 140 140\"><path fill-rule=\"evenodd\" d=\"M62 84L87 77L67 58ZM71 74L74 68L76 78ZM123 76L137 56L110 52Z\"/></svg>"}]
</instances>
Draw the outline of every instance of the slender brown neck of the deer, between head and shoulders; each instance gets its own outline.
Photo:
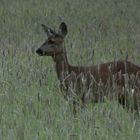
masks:
<instances>
[{"instance_id":1,"label":"slender brown neck of the deer, between head and shoulders","mask_svg":"<svg viewBox=\"0 0 140 140\"><path fill-rule=\"evenodd\" d=\"M69 75L69 63L66 52L55 55L53 60L55 62L57 77L60 81L63 81Z\"/></svg>"}]
</instances>

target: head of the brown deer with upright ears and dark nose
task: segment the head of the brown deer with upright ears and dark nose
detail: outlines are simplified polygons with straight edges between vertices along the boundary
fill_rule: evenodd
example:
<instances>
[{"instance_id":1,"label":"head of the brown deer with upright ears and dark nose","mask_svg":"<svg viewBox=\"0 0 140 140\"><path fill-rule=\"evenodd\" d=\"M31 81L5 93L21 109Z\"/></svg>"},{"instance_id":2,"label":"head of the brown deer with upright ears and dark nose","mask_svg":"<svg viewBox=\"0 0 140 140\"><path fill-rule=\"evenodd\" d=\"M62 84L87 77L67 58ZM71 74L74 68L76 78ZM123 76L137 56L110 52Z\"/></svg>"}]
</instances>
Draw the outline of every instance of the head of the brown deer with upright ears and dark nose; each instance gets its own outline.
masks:
<instances>
[{"instance_id":1,"label":"head of the brown deer with upright ears and dark nose","mask_svg":"<svg viewBox=\"0 0 140 140\"><path fill-rule=\"evenodd\" d=\"M36 50L40 56L55 56L64 52L63 42L67 34L67 26L62 22L58 32L42 24L44 31L47 34L47 40Z\"/></svg>"}]
</instances>

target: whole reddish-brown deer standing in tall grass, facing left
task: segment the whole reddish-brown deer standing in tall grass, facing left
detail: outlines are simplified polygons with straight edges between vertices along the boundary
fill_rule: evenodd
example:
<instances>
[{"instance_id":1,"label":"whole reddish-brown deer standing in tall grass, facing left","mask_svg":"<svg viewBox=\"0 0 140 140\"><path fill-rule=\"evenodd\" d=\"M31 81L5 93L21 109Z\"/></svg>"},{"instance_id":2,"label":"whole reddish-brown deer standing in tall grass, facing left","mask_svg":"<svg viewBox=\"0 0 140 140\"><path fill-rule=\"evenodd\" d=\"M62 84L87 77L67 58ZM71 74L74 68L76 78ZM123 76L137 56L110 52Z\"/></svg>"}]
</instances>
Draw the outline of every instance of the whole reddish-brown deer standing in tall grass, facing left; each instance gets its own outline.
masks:
<instances>
[{"instance_id":1,"label":"whole reddish-brown deer standing in tall grass, facing left","mask_svg":"<svg viewBox=\"0 0 140 140\"><path fill-rule=\"evenodd\" d=\"M36 50L40 56L52 56L60 89L67 100L72 99L74 104L85 105L89 101L103 101L104 97L113 96L123 106L127 104L129 95L133 108L140 107L140 67L127 60L113 61L103 64L85 66L71 66L67 59L64 47L64 38L67 26L62 22L56 32L42 24L47 33L47 40Z\"/></svg>"}]
</instances>

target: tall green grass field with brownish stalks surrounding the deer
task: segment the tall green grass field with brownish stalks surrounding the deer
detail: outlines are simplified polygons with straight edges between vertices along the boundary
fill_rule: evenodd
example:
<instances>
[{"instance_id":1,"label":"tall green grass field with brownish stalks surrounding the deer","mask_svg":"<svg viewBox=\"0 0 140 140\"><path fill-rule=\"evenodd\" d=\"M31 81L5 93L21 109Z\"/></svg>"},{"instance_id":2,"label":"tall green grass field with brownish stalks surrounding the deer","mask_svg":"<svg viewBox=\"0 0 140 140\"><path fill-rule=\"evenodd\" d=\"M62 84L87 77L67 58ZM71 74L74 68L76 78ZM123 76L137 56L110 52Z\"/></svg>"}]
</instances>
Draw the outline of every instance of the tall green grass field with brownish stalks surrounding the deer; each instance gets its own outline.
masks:
<instances>
[{"instance_id":1,"label":"tall green grass field with brownish stalks surrounding the deer","mask_svg":"<svg viewBox=\"0 0 140 140\"><path fill-rule=\"evenodd\" d=\"M0 140L140 140L140 118L114 102L74 118L62 97L40 24L68 25L73 65L128 59L140 65L139 0L0 1ZM93 53L94 51L94 53Z\"/></svg>"}]
</instances>

